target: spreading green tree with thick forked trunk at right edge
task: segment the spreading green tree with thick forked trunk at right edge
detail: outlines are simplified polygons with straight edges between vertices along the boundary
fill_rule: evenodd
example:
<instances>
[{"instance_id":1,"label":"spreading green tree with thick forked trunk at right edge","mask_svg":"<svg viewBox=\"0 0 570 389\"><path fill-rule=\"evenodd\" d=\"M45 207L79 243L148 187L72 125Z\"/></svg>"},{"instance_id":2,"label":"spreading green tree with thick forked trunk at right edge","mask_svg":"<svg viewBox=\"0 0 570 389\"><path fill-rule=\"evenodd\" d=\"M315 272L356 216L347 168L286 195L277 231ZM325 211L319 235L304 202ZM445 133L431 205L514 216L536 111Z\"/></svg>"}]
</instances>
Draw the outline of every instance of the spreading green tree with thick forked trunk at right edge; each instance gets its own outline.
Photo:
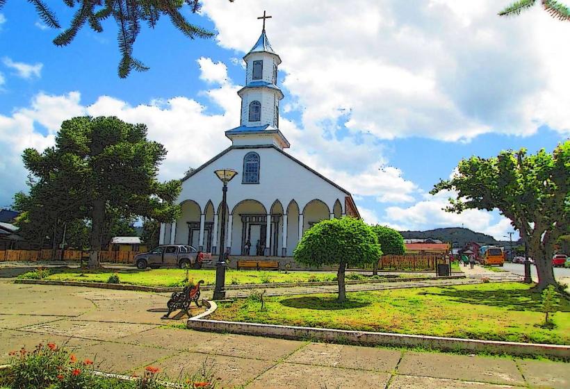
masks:
<instances>
[{"instance_id":1,"label":"spreading green tree with thick forked trunk at right edge","mask_svg":"<svg viewBox=\"0 0 570 389\"><path fill-rule=\"evenodd\" d=\"M551 258L555 242L570 229L570 140L552 154L502 151L497 157L459 162L457 174L440 181L432 194L454 190L446 210L498 209L511 220L535 260L539 290L554 285Z\"/></svg>"}]
</instances>

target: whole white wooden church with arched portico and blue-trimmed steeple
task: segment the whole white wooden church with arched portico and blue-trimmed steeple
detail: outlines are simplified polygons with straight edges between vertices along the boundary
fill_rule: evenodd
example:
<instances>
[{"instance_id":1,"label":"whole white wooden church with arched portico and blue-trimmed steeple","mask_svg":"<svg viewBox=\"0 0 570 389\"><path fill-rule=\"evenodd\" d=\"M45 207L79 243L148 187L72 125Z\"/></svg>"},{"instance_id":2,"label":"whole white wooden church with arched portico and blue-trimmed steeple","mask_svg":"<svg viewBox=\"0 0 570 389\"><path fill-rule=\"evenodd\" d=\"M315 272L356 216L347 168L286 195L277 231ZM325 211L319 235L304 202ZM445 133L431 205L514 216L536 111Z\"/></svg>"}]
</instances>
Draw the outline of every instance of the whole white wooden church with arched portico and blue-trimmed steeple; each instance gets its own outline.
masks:
<instances>
[{"instance_id":1,"label":"whole white wooden church with arched portico and blue-trimmed steeple","mask_svg":"<svg viewBox=\"0 0 570 389\"><path fill-rule=\"evenodd\" d=\"M293 256L302 234L313 224L345 215L360 217L348 190L285 151L291 144L279 131L281 58L269 44L263 22L259 40L243 57L245 86L238 91L241 122L225 131L231 146L182 179L178 198L182 213L175 222L161 224L161 245L190 245L218 254L224 228L222 249L230 258L263 256L283 262ZM225 210L222 182L214 174L218 169L238 172L227 185ZM222 212L225 226L220 225Z\"/></svg>"}]
</instances>

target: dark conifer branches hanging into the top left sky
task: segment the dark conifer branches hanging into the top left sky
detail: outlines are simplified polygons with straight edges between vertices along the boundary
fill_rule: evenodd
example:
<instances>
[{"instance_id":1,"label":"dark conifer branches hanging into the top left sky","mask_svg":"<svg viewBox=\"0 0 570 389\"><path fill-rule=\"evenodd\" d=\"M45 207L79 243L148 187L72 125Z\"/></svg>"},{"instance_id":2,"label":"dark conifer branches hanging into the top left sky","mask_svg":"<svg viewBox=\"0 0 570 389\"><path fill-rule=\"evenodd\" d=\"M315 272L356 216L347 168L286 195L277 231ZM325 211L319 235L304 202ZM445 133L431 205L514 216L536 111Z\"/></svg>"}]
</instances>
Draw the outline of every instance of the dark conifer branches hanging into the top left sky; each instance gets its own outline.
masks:
<instances>
[{"instance_id":1,"label":"dark conifer branches hanging into the top left sky","mask_svg":"<svg viewBox=\"0 0 570 389\"><path fill-rule=\"evenodd\" d=\"M51 28L61 28L54 12L42 0L28 0L35 6L40 19ZM0 0L0 9L6 0ZM86 24L96 33L103 32L106 19L112 18L117 24L119 33L117 42L121 52L118 73L121 78L129 75L131 70L145 72L149 68L140 60L133 58L133 44L140 33L140 25L146 23L154 28L161 16L170 18L170 22L190 39L211 38L214 33L206 28L192 24L182 15L184 6L190 13L197 13L201 5L198 0L63 0L66 6L74 10L70 26L55 39L56 46L67 46Z\"/></svg>"}]
</instances>

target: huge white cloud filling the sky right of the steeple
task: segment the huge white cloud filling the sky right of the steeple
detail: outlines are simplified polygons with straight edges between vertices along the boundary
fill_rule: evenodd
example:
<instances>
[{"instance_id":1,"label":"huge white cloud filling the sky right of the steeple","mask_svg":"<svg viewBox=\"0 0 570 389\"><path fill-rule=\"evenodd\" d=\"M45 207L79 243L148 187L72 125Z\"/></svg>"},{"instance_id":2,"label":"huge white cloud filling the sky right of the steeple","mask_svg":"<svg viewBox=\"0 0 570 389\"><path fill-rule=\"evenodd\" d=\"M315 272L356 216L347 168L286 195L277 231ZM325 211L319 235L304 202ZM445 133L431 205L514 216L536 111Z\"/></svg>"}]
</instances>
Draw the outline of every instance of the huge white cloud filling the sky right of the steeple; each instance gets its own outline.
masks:
<instances>
[{"instance_id":1,"label":"huge white cloud filling the sky right of the steeple","mask_svg":"<svg viewBox=\"0 0 570 389\"><path fill-rule=\"evenodd\" d=\"M570 24L539 7L510 19L498 8L492 0L307 0L301 8L250 0L208 1L203 11L222 47L246 52L261 30L257 13L268 9L268 36L304 129L326 121L380 139L447 141L530 135L543 124L570 133L570 90L560 81Z\"/></svg>"}]
</instances>

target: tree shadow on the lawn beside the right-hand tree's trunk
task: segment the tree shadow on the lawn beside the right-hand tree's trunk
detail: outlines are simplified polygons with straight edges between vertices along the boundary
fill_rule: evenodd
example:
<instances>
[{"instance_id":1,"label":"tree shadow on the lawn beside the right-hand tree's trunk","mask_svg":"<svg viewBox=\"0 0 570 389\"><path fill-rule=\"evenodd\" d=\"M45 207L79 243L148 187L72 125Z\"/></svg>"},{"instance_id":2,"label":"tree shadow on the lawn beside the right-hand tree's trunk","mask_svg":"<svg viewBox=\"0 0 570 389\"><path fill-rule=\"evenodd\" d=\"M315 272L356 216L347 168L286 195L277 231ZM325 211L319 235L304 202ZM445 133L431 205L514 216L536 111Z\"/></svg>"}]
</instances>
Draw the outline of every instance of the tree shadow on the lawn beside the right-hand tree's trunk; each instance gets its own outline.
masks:
<instances>
[{"instance_id":1,"label":"tree shadow on the lawn beside the right-hand tree's trunk","mask_svg":"<svg viewBox=\"0 0 570 389\"><path fill-rule=\"evenodd\" d=\"M440 292L420 292L424 296L444 296L462 304L478 304L506 308L508 311L535 311L542 308L540 293L529 290L464 290L442 288ZM570 302L560 299L560 312L570 312Z\"/></svg>"}]
</instances>

